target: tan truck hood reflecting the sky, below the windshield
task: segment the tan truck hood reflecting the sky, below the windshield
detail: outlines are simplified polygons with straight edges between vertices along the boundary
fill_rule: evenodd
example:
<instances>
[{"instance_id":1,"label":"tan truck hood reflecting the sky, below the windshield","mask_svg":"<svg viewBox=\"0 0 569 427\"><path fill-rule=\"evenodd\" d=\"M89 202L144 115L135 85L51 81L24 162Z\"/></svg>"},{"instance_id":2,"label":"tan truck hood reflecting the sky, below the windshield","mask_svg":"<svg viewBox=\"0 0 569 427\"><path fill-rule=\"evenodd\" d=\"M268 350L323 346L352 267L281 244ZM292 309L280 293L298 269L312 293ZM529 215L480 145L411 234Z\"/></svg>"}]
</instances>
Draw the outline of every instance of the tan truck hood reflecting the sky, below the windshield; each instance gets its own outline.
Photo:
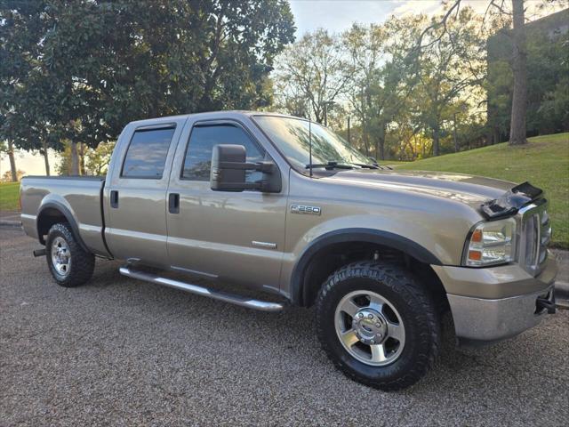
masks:
<instances>
[{"instance_id":1,"label":"tan truck hood reflecting the sky, below the windshield","mask_svg":"<svg viewBox=\"0 0 569 427\"><path fill-rule=\"evenodd\" d=\"M462 173L354 169L325 180L391 191L414 192L467 204L480 212L485 202L504 195L516 184Z\"/></svg>"}]
</instances>

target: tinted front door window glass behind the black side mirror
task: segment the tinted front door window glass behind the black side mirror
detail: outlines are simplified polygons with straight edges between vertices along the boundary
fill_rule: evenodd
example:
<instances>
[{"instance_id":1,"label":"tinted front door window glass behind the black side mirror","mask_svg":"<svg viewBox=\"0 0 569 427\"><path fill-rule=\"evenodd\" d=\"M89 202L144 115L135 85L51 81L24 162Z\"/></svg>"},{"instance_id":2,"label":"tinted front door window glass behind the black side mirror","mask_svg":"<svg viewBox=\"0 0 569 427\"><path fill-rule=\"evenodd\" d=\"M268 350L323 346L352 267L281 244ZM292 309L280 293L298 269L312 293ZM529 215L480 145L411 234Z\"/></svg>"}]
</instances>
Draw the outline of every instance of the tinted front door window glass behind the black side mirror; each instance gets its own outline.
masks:
<instances>
[{"instance_id":1,"label":"tinted front door window glass behind the black side mirror","mask_svg":"<svg viewBox=\"0 0 569 427\"><path fill-rule=\"evenodd\" d=\"M192 181L210 181L212 150L218 144L243 145L247 151L247 162L260 162L263 159L259 148L239 127L233 125L196 126L189 137L182 178ZM247 171L247 181L258 181L261 177L260 172Z\"/></svg>"}]
</instances>

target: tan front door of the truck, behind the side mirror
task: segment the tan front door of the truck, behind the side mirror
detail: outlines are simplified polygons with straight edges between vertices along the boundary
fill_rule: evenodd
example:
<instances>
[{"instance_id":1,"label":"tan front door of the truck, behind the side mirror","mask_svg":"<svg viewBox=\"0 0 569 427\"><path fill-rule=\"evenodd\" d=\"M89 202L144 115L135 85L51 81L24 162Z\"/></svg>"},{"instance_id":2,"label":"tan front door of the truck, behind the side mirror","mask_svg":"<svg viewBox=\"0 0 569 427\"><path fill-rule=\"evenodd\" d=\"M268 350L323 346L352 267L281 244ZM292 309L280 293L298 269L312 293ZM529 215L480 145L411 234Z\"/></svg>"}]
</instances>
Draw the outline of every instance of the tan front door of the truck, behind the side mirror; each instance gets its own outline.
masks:
<instances>
[{"instance_id":1,"label":"tan front door of the truck, behind the side mirror","mask_svg":"<svg viewBox=\"0 0 569 427\"><path fill-rule=\"evenodd\" d=\"M286 186L271 194L213 191L210 165L212 148L217 144L244 145L248 162L267 158L253 133L236 121L188 120L168 189L172 268L277 290L284 250ZM249 172L247 179L259 180L260 173Z\"/></svg>"}]
</instances>

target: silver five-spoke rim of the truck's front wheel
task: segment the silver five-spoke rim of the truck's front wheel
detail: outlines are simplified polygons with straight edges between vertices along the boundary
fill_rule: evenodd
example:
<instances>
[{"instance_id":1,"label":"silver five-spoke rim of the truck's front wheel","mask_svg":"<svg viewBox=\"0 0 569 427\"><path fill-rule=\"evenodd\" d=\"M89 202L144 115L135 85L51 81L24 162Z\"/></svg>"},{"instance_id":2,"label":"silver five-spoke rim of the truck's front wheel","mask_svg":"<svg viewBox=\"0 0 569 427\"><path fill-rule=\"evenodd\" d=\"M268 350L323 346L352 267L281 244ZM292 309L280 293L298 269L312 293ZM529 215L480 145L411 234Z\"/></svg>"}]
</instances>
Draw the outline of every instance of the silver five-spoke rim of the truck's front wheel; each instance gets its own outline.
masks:
<instances>
[{"instance_id":1,"label":"silver five-spoke rim of the truck's front wheel","mask_svg":"<svg viewBox=\"0 0 569 427\"><path fill-rule=\"evenodd\" d=\"M389 365L405 348L403 318L380 294L362 290L345 295L336 308L334 323L344 349L366 365Z\"/></svg>"}]
</instances>

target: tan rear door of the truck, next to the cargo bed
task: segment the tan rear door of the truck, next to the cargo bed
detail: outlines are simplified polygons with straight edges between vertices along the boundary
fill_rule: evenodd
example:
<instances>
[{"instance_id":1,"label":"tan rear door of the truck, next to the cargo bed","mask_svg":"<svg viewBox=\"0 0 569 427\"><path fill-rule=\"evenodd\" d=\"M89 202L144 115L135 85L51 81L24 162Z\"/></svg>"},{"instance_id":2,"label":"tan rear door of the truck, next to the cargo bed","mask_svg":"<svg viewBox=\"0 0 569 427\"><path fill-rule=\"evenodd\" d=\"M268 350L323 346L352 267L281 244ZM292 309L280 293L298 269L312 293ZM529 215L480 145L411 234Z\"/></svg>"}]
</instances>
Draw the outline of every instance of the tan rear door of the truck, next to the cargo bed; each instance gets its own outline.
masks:
<instances>
[{"instance_id":1,"label":"tan rear door of the truck, next to the cargo bed","mask_svg":"<svg viewBox=\"0 0 569 427\"><path fill-rule=\"evenodd\" d=\"M118 259L168 266L166 189L183 118L127 125L105 187L105 238Z\"/></svg>"}]
</instances>

